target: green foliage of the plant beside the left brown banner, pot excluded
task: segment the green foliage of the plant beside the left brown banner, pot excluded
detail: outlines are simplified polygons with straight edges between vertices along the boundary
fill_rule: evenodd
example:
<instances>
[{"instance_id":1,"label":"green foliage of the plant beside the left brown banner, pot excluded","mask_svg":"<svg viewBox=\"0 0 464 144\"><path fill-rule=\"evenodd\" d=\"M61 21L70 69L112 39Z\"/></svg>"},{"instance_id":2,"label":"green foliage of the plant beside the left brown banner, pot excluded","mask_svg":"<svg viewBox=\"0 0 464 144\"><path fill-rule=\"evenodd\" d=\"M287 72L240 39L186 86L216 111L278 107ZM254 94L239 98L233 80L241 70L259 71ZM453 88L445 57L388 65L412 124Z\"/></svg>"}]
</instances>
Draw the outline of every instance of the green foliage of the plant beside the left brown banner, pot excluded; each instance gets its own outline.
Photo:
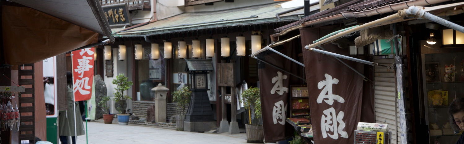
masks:
<instances>
[{"instance_id":1,"label":"green foliage of the plant beside the left brown banner, pot excluded","mask_svg":"<svg viewBox=\"0 0 464 144\"><path fill-rule=\"evenodd\" d=\"M250 113L253 112L255 114L255 118L260 120L262 113L261 113L261 99L259 96L259 88L250 87L249 89L243 91L242 99L240 102L245 104L245 109L247 109ZM251 115L251 114L250 114ZM250 120L251 124L251 120ZM257 123L259 124L259 122Z\"/></svg>"}]
</instances>

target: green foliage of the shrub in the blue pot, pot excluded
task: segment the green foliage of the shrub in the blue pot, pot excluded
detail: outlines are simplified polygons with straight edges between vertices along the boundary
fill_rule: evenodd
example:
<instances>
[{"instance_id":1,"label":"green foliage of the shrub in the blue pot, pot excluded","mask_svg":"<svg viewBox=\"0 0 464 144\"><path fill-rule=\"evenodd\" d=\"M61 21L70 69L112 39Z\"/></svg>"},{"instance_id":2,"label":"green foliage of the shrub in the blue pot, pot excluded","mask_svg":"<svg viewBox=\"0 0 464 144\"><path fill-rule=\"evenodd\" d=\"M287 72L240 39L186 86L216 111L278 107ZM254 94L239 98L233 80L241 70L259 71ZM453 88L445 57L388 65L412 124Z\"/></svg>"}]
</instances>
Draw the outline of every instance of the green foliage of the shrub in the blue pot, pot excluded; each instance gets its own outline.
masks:
<instances>
[{"instance_id":1,"label":"green foliage of the shrub in the blue pot, pot excluded","mask_svg":"<svg viewBox=\"0 0 464 144\"><path fill-rule=\"evenodd\" d=\"M121 114L126 114L126 101L131 99L131 97L124 95L124 91L129 90L133 83L129 81L124 74L120 73L116 76L116 79L113 80L113 84L116 84L116 92L113 93L116 100L116 110Z\"/></svg>"}]
</instances>

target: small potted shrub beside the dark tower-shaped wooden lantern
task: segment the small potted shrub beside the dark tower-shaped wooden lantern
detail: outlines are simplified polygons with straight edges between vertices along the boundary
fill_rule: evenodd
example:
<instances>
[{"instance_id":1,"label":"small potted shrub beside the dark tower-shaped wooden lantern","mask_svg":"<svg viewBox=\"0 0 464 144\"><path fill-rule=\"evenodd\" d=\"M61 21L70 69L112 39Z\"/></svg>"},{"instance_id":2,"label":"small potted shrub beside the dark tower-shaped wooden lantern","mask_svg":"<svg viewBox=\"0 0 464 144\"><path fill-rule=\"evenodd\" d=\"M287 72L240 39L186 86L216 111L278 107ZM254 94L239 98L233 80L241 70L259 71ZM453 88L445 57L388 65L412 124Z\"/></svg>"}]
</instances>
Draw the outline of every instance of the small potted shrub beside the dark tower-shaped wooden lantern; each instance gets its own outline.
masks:
<instances>
[{"instance_id":1,"label":"small potted shrub beside the dark tower-shaped wooden lantern","mask_svg":"<svg viewBox=\"0 0 464 144\"><path fill-rule=\"evenodd\" d=\"M173 101L177 102L177 105L180 107L180 114L176 115L176 130L178 131L184 131L185 108L190 103L191 96L192 91L187 86L173 93Z\"/></svg>"}]
</instances>

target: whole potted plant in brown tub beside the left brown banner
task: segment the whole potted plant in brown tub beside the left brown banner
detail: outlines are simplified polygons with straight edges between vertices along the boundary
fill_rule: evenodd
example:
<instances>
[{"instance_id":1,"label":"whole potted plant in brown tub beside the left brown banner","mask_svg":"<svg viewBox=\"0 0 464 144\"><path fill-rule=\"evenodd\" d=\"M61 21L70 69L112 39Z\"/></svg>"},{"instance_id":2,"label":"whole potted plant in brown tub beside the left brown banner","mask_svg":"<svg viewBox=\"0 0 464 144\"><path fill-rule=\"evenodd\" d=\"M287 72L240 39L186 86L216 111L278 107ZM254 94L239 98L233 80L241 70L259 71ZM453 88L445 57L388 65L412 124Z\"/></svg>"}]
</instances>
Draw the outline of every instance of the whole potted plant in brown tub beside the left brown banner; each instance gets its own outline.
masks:
<instances>
[{"instance_id":1,"label":"whole potted plant in brown tub beside the left brown banner","mask_svg":"<svg viewBox=\"0 0 464 144\"><path fill-rule=\"evenodd\" d=\"M261 99L259 97L259 88L250 87L243 91L242 99L245 104L245 109L248 111L249 116L255 115L255 124L252 123L250 118L249 123L245 125L246 129L246 142L247 143L263 143L264 132L263 126L259 125L261 114Z\"/></svg>"}]
</instances>

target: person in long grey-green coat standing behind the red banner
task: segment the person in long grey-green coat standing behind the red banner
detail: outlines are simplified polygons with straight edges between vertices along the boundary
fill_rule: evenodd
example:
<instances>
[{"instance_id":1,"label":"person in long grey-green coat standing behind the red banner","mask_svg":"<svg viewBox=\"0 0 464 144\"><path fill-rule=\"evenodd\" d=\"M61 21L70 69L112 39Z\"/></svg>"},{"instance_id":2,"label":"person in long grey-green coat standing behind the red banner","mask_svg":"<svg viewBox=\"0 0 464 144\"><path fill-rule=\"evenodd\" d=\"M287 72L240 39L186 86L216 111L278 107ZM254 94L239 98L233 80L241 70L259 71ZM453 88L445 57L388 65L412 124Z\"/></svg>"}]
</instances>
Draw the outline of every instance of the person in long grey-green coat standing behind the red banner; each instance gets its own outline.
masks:
<instances>
[{"instance_id":1,"label":"person in long grey-green coat standing behind the red banner","mask_svg":"<svg viewBox=\"0 0 464 144\"><path fill-rule=\"evenodd\" d=\"M68 90L66 91L66 102L68 104L68 110L59 112L59 139L61 144L71 144L68 143L68 137L71 136L72 144L76 144L75 132L77 131L77 136L84 135L84 124L81 118L79 104L74 102L71 72L66 72L66 79L68 83ZM73 104L76 105L76 113L74 112ZM74 127L74 120L76 120L76 127Z\"/></svg>"}]
</instances>

